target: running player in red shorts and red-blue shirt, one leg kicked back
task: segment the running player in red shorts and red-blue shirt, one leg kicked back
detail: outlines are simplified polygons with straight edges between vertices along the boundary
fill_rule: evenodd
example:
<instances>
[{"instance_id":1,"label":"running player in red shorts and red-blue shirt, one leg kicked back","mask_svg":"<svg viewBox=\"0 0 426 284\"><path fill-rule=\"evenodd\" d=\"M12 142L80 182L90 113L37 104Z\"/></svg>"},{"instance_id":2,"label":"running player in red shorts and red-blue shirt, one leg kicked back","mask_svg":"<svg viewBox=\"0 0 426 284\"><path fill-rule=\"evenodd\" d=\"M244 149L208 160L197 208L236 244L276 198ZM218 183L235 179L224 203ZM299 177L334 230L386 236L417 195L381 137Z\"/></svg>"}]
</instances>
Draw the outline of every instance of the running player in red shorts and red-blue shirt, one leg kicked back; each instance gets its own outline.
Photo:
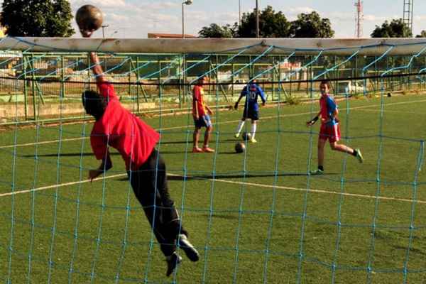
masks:
<instances>
[{"instance_id":1,"label":"running player in red shorts and red-blue shirt, one leg kicked back","mask_svg":"<svg viewBox=\"0 0 426 284\"><path fill-rule=\"evenodd\" d=\"M320 112L312 120L307 121L306 126L312 126L321 116L320 136L318 137L318 169L312 171L314 174L324 173L324 146L327 140L333 151L349 153L359 160L359 163L364 161L361 151L350 148L346 145L337 143L340 141L340 126L337 114L337 104L334 99L329 96L329 82L324 80L320 84Z\"/></svg>"}]
</instances>

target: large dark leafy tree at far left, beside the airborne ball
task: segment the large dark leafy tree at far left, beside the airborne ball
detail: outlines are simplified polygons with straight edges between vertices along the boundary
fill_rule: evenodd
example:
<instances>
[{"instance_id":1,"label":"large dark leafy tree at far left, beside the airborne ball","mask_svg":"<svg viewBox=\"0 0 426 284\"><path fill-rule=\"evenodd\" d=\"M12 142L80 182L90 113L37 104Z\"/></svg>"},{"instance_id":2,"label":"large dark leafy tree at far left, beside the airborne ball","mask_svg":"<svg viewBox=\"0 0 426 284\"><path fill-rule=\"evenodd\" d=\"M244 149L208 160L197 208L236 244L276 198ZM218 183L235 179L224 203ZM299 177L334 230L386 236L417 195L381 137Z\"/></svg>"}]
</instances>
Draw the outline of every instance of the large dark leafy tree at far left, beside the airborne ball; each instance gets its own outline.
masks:
<instances>
[{"instance_id":1,"label":"large dark leafy tree at far left, beside the airborne ball","mask_svg":"<svg viewBox=\"0 0 426 284\"><path fill-rule=\"evenodd\" d=\"M67 0L4 0L0 23L11 36L68 37L71 19Z\"/></svg>"}]
</instances>

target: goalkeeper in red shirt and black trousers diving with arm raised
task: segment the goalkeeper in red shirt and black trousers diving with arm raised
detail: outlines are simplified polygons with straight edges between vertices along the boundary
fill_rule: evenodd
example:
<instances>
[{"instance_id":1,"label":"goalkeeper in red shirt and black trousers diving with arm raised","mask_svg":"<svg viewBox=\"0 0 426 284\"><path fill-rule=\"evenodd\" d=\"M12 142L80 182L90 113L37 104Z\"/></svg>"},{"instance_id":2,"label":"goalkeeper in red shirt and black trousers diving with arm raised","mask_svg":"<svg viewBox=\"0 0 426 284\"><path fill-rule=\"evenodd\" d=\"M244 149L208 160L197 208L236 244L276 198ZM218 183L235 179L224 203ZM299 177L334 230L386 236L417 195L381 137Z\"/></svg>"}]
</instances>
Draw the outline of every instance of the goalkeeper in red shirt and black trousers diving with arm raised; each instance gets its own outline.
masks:
<instances>
[{"instance_id":1,"label":"goalkeeper in red shirt and black trousers diving with arm raised","mask_svg":"<svg viewBox=\"0 0 426 284\"><path fill-rule=\"evenodd\" d=\"M112 168L109 146L121 153L133 192L160 243L167 262L166 275L169 276L182 261L176 253L177 245L191 261L198 261L199 254L188 241L187 231L168 192L165 162L155 149L160 135L121 106L114 87L103 75L96 53L90 53L90 58L99 93L84 91L82 103L87 114L94 116L90 143L95 157L102 163L97 170L89 170L89 179L93 180Z\"/></svg>"}]
</instances>

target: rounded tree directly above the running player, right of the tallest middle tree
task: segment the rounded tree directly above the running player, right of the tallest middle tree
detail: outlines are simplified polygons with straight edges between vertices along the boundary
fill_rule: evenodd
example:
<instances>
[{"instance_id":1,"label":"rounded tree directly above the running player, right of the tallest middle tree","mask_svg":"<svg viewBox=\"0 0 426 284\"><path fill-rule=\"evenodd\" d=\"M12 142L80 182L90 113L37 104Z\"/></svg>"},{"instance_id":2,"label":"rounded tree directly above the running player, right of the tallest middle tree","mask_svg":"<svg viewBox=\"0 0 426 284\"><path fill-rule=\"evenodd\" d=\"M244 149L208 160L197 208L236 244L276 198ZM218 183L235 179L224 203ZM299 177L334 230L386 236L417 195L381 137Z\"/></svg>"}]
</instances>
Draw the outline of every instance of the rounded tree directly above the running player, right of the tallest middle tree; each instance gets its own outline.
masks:
<instances>
[{"instance_id":1,"label":"rounded tree directly above the running player, right of the tallest middle tree","mask_svg":"<svg viewBox=\"0 0 426 284\"><path fill-rule=\"evenodd\" d=\"M334 31L329 18L321 18L320 14L300 13L297 20L291 23L292 38L332 38Z\"/></svg>"}]
</instances>

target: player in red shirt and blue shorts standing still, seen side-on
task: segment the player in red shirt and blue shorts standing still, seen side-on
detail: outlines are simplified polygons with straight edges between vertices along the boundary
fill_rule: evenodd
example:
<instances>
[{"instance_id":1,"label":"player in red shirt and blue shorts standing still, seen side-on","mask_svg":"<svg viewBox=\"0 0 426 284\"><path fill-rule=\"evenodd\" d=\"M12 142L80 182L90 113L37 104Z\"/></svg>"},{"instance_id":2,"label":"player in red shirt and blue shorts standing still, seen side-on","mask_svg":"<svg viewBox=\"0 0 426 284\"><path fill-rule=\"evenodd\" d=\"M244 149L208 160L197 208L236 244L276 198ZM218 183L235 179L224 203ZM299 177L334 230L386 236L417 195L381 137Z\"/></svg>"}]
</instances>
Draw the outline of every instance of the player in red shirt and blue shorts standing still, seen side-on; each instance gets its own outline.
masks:
<instances>
[{"instance_id":1,"label":"player in red shirt and blue shorts standing still, seen side-on","mask_svg":"<svg viewBox=\"0 0 426 284\"><path fill-rule=\"evenodd\" d=\"M212 133L213 125L209 115L213 114L204 102L204 89L203 85L207 82L207 76L202 76L192 89L192 117L194 118L195 130L193 134L194 147L192 153L213 153L214 149L209 148L210 133ZM200 139L200 130L202 127L206 128L204 133L204 143L202 148L198 147Z\"/></svg>"}]
</instances>

